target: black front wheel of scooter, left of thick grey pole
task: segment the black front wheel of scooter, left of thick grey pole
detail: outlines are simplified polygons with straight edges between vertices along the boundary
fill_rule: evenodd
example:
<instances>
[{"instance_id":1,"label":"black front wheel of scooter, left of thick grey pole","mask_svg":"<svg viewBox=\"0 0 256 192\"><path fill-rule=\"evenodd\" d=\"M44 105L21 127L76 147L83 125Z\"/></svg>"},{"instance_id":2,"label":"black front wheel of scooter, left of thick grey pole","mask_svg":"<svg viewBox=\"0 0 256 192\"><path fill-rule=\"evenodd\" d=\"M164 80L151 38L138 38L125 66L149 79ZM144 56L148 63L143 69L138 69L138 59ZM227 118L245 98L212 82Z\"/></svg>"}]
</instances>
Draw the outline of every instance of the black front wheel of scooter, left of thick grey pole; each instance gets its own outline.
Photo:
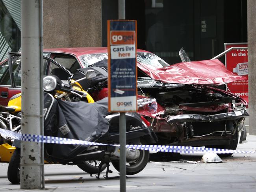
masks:
<instances>
[{"instance_id":1,"label":"black front wheel of scooter, left of thick grey pole","mask_svg":"<svg viewBox=\"0 0 256 192\"><path fill-rule=\"evenodd\" d=\"M11 156L7 177L12 184L20 183L20 148L16 148Z\"/></svg>"}]
</instances>

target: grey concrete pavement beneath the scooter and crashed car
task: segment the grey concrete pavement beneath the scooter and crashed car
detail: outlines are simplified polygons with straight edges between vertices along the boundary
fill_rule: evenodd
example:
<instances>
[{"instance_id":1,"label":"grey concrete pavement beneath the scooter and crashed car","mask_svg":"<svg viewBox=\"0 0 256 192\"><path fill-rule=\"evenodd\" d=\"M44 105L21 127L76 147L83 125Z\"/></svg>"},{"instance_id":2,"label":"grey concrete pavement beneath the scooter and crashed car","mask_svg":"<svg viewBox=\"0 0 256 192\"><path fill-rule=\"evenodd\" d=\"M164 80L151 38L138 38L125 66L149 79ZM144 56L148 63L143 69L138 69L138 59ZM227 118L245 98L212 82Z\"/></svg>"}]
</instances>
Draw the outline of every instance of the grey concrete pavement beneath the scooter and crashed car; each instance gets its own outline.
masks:
<instances>
[{"instance_id":1,"label":"grey concrete pavement beneath the scooter and crashed car","mask_svg":"<svg viewBox=\"0 0 256 192\"><path fill-rule=\"evenodd\" d=\"M256 136L247 135L247 143L239 144L237 150L256 150ZM254 192L256 188L256 153L234 154L222 158L222 163L205 164L200 162L202 155L182 155L186 162L149 162L146 168L136 175L129 175L126 191L140 192ZM20 185L11 185L7 179L8 164L0 164L0 192L42 191L20 190ZM113 174L118 172L111 166ZM45 165L45 190L49 192L100 192L119 191L119 179L106 180L80 170L77 166Z\"/></svg>"}]
</instances>

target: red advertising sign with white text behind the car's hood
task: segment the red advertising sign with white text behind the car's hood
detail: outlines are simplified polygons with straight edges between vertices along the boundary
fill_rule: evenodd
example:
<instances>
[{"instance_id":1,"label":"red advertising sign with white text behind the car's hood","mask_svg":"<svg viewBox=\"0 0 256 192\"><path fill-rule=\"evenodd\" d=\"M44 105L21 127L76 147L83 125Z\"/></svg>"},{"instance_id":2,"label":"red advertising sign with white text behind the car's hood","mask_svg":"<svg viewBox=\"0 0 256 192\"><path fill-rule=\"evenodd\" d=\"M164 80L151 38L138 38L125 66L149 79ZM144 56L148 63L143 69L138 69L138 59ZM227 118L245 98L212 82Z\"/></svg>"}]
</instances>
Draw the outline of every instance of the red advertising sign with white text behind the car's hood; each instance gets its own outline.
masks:
<instances>
[{"instance_id":1,"label":"red advertising sign with white text behind the car's hood","mask_svg":"<svg viewBox=\"0 0 256 192\"><path fill-rule=\"evenodd\" d=\"M244 98L248 102L248 50L241 49L241 47L247 48L247 43L225 43L225 50L231 47L240 47L239 49L233 49L225 55L226 68L236 75L244 76L246 80L234 81L228 83L228 89Z\"/></svg>"}]
</instances>

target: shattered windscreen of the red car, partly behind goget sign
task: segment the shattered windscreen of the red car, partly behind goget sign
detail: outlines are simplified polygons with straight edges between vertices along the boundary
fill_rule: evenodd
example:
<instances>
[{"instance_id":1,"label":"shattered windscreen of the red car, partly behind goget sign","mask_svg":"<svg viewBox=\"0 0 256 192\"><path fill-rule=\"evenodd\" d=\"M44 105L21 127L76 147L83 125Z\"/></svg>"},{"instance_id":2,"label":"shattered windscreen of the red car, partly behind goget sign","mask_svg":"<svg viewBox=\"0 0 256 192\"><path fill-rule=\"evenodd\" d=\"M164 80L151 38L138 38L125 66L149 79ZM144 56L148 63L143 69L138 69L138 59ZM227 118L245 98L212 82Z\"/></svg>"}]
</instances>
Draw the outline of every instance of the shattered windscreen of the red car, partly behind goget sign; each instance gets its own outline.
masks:
<instances>
[{"instance_id":1,"label":"shattered windscreen of the red car, partly behind goget sign","mask_svg":"<svg viewBox=\"0 0 256 192\"><path fill-rule=\"evenodd\" d=\"M80 57L83 65L85 67L89 65L93 65L93 63L96 63L98 61L108 59L108 54L107 53L101 53L101 54L88 54L88 55L83 55ZM147 64L147 65L152 65L152 66L157 66L157 67L165 67L169 66L163 59L160 57L151 54L151 53L145 53L145 52L138 52L137 53L137 61L139 63Z\"/></svg>"}]
</instances>

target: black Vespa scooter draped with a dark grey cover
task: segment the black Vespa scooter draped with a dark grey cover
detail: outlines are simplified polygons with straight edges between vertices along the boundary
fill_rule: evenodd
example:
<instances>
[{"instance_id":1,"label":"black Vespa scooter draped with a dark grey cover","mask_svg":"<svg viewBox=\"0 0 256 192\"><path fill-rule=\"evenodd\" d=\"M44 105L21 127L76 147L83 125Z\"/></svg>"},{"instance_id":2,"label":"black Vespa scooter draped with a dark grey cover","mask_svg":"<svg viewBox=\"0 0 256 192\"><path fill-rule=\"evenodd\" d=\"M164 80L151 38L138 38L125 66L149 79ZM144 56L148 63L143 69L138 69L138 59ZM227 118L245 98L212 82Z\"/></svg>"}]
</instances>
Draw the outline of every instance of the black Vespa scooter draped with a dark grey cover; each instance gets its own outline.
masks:
<instances>
[{"instance_id":1,"label":"black Vespa scooter draped with a dark grey cover","mask_svg":"<svg viewBox=\"0 0 256 192\"><path fill-rule=\"evenodd\" d=\"M95 74L93 71L89 71L85 76L88 78L95 76ZM81 100L87 99L87 94L74 89L72 85L61 81L56 76L46 76L43 84L45 135L90 142L97 141L105 144L119 143L120 114L108 112L107 98L95 103L67 102L61 100L64 93L76 95ZM73 99L73 97L70 98ZM156 139L156 135L150 130L145 118L137 113L126 113L127 144L155 143ZM16 150L8 166L7 177L11 183L19 183L20 181L19 143L18 140L13 143ZM105 166L107 167L106 178L108 178L109 162L119 171L119 155L119 147L117 146L45 143L45 161L48 163L77 165L85 172L91 173L95 173L97 170L98 177ZM133 175L141 172L147 165L148 159L148 151L126 149L126 174ZM100 164L98 167L88 166L86 164L88 161L100 161Z\"/></svg>"}]
</instances>

